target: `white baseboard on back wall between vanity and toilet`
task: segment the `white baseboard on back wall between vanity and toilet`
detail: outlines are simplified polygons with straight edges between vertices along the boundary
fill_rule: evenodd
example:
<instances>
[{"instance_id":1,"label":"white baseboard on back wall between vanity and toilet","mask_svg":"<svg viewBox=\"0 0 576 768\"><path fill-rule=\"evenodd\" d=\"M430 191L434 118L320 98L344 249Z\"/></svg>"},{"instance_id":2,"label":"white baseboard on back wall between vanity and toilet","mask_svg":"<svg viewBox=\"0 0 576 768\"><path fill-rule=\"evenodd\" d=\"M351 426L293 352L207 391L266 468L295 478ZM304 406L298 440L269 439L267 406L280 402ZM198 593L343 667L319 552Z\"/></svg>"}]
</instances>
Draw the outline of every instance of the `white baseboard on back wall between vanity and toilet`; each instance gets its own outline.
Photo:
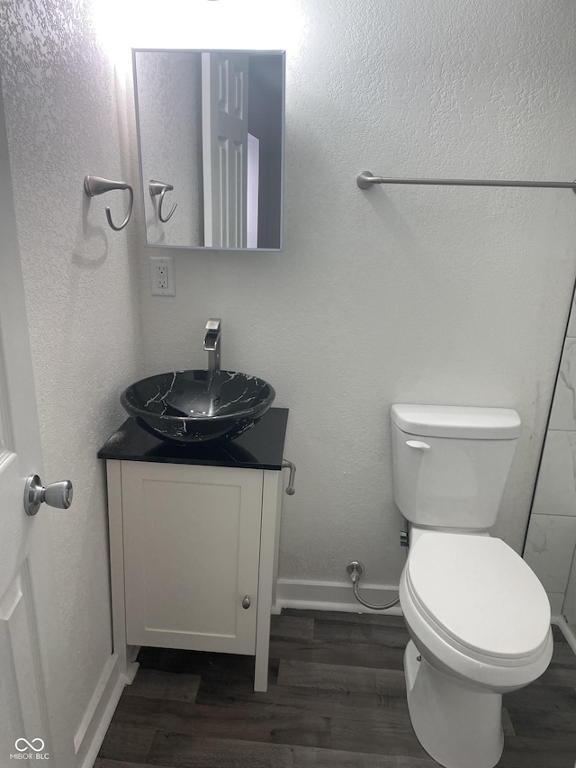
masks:
<instances>
[{"instance_id":1,"label":"white baseboard on back wall between vanity and toilet","mask_svg":"<svg viewBox=\"0 0 576 768\"><path fill-rule=\"evenodd\" d=\"M361 588L365 601L383 605L398 597L398 587L371 586ZM400 605L388 610L372 610L356 601L350 582L306 582L294 579L278 579L273 613L283 608L300 610L340 610L344 613L376 613L401 616Z\"/></svg>"}]
</instances>

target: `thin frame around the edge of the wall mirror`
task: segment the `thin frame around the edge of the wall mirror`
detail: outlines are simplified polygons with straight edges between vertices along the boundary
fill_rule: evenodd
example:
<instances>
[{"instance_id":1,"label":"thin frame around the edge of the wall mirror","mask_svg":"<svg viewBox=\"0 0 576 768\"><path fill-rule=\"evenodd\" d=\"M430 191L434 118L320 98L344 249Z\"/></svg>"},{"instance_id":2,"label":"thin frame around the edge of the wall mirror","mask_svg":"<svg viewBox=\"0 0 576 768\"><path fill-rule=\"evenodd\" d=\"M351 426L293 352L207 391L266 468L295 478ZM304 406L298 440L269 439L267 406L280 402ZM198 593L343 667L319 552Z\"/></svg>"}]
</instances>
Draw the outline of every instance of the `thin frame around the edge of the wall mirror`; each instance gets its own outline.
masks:
<instances>
[{"instance_id":1,"label":"thin frame around the edge of the wall mirror","mask_svg":"<svg viewBox=\"0 0 576 768\"><path fill-rule=\"evenodd\" d=\"M215 246L191 246L191 245L165 245L162 243L148 242L148 229L146 227L146 205L144 177L142 176L142 143L140 139L139 125L139 102L138 102L138 74L136 72L136 54L137 53L247 53L254 55L277 54L282 56L282 131L280 147L280 174L282 185L280 188L280 247L279 248L223 248ZM286 51L285 50L245 50L245 49L218 49L218 48L133 48L132 49L132 77L134 86L134 109L136 119L136 139L138 144L138 172L140 181L140 205L142 211L142 223L144 226L144 240L146 248L177 248L178 250L206 250L206 251L238 251L239 253L280 253L284 250L284 185L285 185L285 144L286 144Z\"/></svg>"}]
</instances>

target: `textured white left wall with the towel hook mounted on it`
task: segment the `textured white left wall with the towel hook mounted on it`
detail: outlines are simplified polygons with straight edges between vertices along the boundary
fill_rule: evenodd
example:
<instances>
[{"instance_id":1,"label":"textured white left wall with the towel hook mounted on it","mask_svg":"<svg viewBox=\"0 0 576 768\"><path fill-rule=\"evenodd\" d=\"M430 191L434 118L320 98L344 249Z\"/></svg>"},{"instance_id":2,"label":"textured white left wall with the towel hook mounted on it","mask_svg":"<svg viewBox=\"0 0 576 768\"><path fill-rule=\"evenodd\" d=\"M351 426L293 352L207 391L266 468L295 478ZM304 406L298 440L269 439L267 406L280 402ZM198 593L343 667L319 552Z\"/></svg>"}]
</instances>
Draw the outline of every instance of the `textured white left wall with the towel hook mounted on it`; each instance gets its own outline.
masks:
<instances>
[{"instance_id":1,"label":"textured white left wall with the towel hook mounted on it","mask_svg":"<svg viewBox=\"0 0 576 768\"><path fill-rule=\"evenodd\" d=\"M118 395L138 375L126 199L89 201L86 173L121 176L114 73L88 0L0 5L0 67L45 482L69 477L74 504L51 518L62 641L58 713L76 732L112 653L103 465L120 423Z\"/></svg>"}]
</instances>

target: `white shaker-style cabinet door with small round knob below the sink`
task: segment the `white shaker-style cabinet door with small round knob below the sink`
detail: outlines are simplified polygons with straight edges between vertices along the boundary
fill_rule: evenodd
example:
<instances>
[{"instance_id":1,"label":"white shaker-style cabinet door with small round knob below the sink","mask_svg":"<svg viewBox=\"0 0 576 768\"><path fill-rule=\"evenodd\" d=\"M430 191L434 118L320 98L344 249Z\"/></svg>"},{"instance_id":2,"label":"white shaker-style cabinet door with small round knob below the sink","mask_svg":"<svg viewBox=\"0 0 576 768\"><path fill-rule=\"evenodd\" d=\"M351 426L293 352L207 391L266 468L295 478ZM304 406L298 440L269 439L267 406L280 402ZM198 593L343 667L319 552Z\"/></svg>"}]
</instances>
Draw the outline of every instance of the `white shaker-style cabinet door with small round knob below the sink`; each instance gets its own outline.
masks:
<instances>
[{"instance_id":1,"label":"white shaker-style cabinet door with small round knob below the sink","mask_svg":"<svg viewBox=\"0 0 576 768\"><path fill-rule=\"evenodd\" d=\"M121 486L127 642L254 654L262 471L121 462Z\"/></svg>"}]
</instances>

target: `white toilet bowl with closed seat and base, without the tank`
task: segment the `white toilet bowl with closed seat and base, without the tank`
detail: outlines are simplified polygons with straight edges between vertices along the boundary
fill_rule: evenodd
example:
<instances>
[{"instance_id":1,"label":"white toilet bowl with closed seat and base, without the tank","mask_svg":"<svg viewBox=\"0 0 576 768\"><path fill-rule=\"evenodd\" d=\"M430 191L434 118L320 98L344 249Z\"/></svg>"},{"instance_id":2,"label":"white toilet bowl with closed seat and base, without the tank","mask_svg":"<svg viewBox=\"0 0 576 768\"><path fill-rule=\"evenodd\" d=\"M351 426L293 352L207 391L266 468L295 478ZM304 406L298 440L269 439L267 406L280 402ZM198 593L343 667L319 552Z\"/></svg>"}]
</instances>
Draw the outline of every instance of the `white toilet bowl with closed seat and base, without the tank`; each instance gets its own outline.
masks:
<instances>
[{"instance_id":1,"label":"white toilet bowl with closed seat and base, without the tank","mask_svg":"<svg viewBox=\"0 0 576 768\"><path fill-rule=\"evenodd\" d=\"M410 551L400 597L420 743L446 768L492 768L504 744L502 693L535 681L552 657L544 588L498 538L427 532Z\"/></svg>"}]
</instances>

